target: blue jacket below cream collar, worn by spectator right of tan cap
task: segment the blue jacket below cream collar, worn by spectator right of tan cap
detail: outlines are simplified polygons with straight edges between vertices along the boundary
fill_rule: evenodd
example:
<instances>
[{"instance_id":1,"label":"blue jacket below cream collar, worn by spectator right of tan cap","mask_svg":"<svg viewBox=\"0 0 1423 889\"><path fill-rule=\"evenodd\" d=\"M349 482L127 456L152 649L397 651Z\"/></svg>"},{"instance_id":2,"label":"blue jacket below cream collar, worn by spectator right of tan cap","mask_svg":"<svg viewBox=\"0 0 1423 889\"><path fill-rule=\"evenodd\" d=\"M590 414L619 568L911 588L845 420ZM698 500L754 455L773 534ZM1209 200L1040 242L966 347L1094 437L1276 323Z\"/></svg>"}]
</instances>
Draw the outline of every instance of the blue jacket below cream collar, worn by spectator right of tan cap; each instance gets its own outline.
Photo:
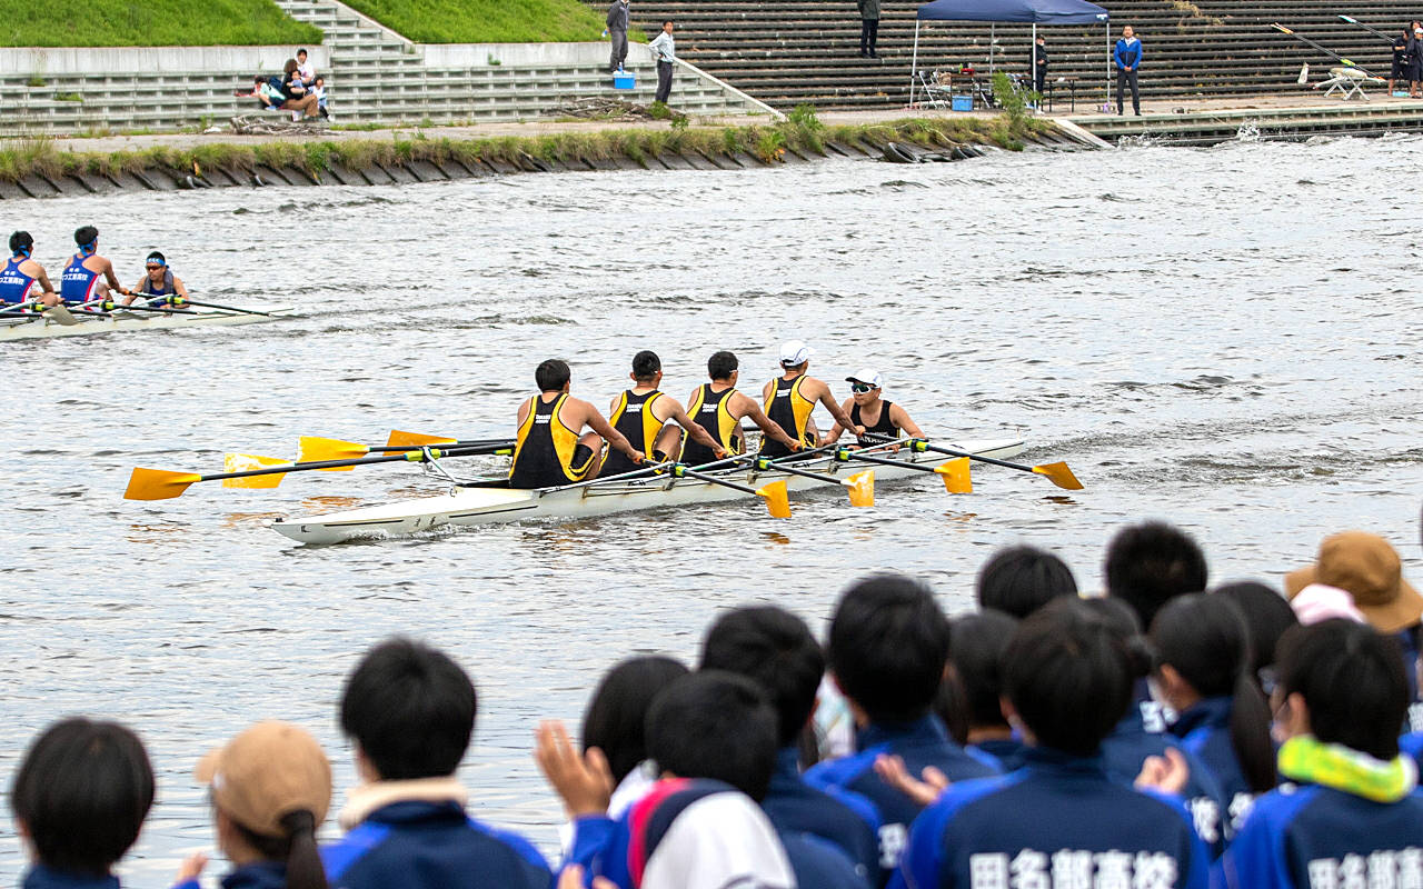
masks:
<instances>
[{"instance_id":1,"label":"blue jacket below cream collar, worn by spectator right of tan cap","mask_svg":"<svg viewBox=\"0 0 1423 889\"><path fill-rule=\"evenodd\" d=\"M528 841L485 826L457 802L394 802L322 849L332 889L548 889Z\"/></svg>"}]
</instances>

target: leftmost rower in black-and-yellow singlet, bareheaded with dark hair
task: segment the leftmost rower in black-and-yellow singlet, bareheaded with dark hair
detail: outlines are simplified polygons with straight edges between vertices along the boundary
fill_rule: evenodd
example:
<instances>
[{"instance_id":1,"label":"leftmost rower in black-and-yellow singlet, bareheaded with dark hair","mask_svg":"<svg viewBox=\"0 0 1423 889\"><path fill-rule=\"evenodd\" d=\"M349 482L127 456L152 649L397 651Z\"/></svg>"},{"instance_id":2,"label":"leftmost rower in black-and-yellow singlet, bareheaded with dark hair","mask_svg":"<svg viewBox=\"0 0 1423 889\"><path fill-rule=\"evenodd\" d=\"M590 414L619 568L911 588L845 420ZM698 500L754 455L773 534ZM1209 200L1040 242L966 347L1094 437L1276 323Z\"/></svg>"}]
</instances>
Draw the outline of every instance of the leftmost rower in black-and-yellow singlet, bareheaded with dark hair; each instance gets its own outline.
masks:
<instances>
[{"instance_id":1,"label":"leftmost rower in black-and-yellow singlet, bareheaded with dark hair","mask_svg":"<svg viewBox=\"0 0 1423 889\"><path fill-rule=\"evenodd\" d=\"M534 371L539 394L519 405L511 488L552 488L596 478L603 438L633 465L643 461L642 451L608 425L598 408L569 397L571 376L568 364L558 358L544 361ZM585 425L593 431L579 437Z\"/></svg>"}]
</instances>

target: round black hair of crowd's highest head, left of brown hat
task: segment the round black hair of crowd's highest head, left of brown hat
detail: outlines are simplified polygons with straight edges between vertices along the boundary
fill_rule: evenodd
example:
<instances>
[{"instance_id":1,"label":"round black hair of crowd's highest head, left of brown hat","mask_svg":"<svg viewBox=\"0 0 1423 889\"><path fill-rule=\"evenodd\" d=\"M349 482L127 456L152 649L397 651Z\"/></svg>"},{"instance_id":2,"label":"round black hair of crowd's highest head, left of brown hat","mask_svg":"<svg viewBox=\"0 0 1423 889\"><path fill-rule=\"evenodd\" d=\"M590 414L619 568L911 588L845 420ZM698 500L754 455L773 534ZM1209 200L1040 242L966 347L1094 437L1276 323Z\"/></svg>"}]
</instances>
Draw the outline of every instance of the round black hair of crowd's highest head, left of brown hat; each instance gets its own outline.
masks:
<instances>
[{"instance_id":1,"label":"round black hair of crowd's highest head, left of brown hat","mask_svg":"<svg viewBox=\"0 0 1423 889\"><path fill-rule=\"evenodd\" d=\"M1107 545L1107 595L1137 612L1143 627L1170 599L1205 590L1205 555L1165 522L1128 525Z\"/></svg>"}]
</instances>

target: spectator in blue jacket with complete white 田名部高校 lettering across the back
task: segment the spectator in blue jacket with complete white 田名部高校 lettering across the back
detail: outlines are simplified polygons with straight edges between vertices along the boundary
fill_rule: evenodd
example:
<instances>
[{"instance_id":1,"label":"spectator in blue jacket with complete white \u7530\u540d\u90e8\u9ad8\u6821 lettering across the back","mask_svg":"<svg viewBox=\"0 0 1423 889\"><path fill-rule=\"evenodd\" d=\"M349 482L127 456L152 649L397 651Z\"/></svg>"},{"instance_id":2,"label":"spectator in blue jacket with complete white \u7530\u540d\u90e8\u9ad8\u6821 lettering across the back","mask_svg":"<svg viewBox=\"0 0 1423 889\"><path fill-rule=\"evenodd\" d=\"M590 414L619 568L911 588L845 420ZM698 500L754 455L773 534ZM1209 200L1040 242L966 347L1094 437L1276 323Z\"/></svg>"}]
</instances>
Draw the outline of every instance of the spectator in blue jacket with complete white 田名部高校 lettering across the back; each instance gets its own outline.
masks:
<instances>
[{"instance_id":1,"label":"spectator in blue jacket with complete white \u7530\u540d\u90e8\u9ad8\u6821 lettering across the back","mask_svg":"<svg viewBox=\"0 0 1423 889\"><path fill-rule=\"evenodd\" d=\"M1081 602L1029 616L1003 690L1029 741L1009 775L949 787L919 815L892 889L1205 889L1210 852L1180 802L1124 787L1100 745L1131 704L1131 653Z\"/></svg>"}]
</instances>

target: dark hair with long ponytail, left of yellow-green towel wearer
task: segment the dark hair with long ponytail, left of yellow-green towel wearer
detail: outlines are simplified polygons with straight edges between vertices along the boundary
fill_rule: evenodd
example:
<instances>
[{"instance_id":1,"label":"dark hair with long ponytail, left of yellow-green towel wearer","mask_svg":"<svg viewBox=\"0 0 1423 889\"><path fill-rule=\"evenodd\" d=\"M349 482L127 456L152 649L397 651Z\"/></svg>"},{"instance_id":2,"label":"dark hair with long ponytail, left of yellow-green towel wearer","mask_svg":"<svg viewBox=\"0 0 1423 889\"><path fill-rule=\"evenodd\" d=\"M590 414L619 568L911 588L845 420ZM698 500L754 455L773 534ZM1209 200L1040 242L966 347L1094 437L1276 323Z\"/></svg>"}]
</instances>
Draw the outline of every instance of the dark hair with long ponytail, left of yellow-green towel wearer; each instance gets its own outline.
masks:
<instances>
[{"instance_id":1,"label":"dark hair with long ponytail, left of yellow-green towel wearer","mask_svg":"<svg viewBox=\"0 0 1423 889\"><path fill-rule=\"evenodd\" d=\"M1201 697L1231 698L1231 748L1251 789L1275 787L1269 704L1251 671L1249 633L1225 596L1191 593L1168 602L1151 624L1158 670L1170 664Z\"/></svg>"}]
</instances>

